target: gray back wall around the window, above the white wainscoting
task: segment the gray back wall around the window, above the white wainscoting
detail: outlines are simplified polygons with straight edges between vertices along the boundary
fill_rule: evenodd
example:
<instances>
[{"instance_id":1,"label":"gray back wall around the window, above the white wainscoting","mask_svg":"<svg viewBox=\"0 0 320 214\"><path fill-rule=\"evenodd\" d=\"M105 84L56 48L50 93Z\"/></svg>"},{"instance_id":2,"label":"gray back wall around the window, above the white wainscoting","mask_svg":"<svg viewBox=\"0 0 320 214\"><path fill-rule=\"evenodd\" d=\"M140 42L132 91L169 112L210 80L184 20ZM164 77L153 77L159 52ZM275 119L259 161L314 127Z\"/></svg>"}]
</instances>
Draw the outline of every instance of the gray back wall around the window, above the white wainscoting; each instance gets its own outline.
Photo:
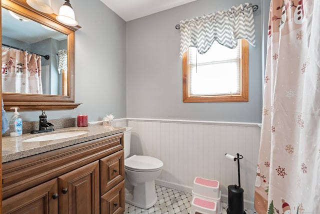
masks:
<instances>
[{"instance_id":1,"label":"gray back wall around the window, above the white wainscoting","mask_svg":"<svg viewBox=\"0 0 320 214\"><path fill-rule=\"evenodd\" d=\"M262 0L254 12L256 46L249 47L249 101L183 103L182 62L179 58L180 20L226 10L243 0L197 0L127 22L127 117L183 120L261 122ZM267 19L267 18L266 18Z\"/></svg>"}]
</instances>

